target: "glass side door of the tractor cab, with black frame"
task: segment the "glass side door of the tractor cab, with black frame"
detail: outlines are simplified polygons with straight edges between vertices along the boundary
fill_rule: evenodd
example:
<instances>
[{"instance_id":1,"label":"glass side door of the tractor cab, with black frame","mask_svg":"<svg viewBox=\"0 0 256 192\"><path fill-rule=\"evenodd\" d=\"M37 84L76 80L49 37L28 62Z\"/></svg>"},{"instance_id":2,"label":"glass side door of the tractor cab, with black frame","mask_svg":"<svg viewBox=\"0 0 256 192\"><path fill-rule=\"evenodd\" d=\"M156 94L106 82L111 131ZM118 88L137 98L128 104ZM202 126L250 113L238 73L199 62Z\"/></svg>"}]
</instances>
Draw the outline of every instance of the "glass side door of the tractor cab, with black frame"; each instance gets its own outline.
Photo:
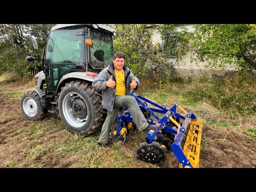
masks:
<instances>
[{"instance_id":1,"label":"glass side door of the tractor cab, with black frame","mask_svg":"<svg viewBox=\"0 0 256 192\"><path fill-rule=\"evenodd\" d=\"M45 59L47 91L54 92L60 77L70 70L84 70L84 28L53 30ZM79 35L82 34L82 35Z\"/></svg>"}]
</instances>

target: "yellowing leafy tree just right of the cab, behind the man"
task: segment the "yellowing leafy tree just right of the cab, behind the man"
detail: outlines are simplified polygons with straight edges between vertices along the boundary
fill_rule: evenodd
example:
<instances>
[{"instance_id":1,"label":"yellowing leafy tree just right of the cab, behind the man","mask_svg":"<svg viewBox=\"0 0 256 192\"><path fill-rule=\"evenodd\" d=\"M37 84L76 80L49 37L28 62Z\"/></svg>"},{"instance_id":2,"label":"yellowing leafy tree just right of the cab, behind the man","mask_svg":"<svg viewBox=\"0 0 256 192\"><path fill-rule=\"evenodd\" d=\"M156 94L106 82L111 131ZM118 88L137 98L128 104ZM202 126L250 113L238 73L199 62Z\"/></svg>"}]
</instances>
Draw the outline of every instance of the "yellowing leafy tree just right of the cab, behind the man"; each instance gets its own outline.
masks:
<instances>
[{"instance_id":1,"label":"yellowing leafy tree just right of the cab, behind the man","mask_svg":"<svg viewBox=\"0 0 256 192\"><path fill-rule=\"evenodd\" d=\"M162 46L159 43L153 44L153 30L148 29L148 26L155 27L142 24L118 24L110 27L117 32L114 37L115 52L122 51L126 55L126 65L133 73L140 78L155 78L159 82L166 78L170 63L160 54Z\"/></svg>"}]
</instances>

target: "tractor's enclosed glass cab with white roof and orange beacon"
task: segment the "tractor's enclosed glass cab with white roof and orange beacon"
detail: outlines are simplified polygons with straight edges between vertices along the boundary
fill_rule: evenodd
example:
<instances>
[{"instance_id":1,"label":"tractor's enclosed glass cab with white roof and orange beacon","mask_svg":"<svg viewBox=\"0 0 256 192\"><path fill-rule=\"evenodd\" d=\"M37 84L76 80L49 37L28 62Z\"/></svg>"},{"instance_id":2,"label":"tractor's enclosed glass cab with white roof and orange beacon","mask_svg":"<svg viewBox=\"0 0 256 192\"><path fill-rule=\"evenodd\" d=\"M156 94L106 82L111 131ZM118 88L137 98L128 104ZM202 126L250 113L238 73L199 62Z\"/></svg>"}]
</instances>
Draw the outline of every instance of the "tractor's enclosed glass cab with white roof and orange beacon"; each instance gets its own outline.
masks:
<instances>
[{"instance_id":1,"label":"tractor's enclosed glass cab with white roof and orange beacon","mask_svg":"<svg viewBox=\"0 0 256 192\"><path fill-rule=\"evenodd\" d=\"M100 24L52 27L42 59L47 92L56 92L65 74L74 71L99 73L107 67L113 61L113 35L113 29ZM30 41L37 49L36 38L31 36Z\"/></svg>"}]
</instances>

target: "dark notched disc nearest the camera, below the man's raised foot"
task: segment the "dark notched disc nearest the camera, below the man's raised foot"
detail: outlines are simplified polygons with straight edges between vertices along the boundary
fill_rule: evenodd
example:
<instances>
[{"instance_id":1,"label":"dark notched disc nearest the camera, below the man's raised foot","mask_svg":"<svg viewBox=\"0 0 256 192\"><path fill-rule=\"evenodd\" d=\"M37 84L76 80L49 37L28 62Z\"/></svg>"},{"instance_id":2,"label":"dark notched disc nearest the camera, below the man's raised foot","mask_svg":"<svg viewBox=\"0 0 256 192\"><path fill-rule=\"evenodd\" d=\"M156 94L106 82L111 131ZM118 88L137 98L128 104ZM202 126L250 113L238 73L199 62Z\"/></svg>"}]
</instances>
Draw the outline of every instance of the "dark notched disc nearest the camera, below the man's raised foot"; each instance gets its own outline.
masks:
<instances>
[{"instance_id":1,"label":"dark notched disc nearest the camera, below the man's raised foot","mask_svg":"<svg viewBox=\"0 0 256 192\"><path fill-rule=\"evenodd\" d=\"M137 156L141 161L149 163L157 163L165 158L167 152L166 147L162 147L158 142L153 141L148 144L146 141L140 143L140 147L137 148Z\"/></svg>"}]
</instances>

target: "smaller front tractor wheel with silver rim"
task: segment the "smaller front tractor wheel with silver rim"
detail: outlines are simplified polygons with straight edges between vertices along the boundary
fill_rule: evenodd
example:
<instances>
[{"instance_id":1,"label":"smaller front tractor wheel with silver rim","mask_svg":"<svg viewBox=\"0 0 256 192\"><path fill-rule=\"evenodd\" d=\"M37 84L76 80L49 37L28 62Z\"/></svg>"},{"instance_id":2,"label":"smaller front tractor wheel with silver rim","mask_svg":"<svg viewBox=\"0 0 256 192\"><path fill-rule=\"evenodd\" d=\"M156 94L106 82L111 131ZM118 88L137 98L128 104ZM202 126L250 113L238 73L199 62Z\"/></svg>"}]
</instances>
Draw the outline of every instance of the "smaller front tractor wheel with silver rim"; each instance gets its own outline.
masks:
<instances>
[{"instance_id":1,"label":"smaller front tractor wheel with silver rim","mask_svg":"<svg viewBox=\"0 0 256 192\"><path fill-rule=\"evenodd\" d=\"M20 107L23 115L28 120L38 121L44 116L44 109L41 106L41 99L36 91L24 93L21 97Z\"/></svg>"}]
</instances>

